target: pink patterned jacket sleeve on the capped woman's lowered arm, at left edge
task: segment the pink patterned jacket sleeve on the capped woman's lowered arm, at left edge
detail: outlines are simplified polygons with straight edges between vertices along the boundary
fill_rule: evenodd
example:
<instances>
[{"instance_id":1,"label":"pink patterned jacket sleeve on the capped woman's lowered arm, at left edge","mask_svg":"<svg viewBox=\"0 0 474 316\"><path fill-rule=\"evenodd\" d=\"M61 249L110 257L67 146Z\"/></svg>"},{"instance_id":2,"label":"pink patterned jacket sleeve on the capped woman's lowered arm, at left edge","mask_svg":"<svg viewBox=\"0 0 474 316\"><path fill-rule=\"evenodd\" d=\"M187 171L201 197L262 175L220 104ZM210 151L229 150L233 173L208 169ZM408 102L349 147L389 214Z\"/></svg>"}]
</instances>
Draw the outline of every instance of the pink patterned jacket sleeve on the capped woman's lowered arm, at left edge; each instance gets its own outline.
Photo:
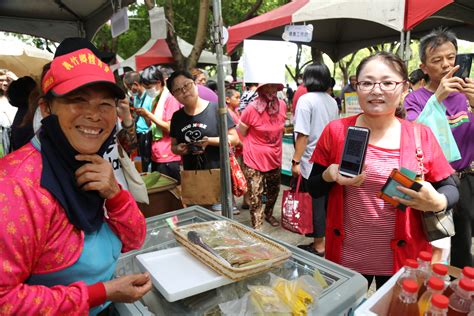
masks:
<instances>
[{"instance_id":1,"label":"pink patterned jacket sleeve on the capped woman's lowered arm, at left edge","mask_svg":"<svg viewBox=\"0 0 474 316\"><path fill-rule=\"evenodd\" d=\"M76 252L52 254L50 249L78 233L64 230L64 221L55 218L56 205L34 190L29 178L22 180L0 177L0 315L87 315L84 282L54 287L25 284L45 255L54 266L70 262Z\"/></svg>"}]
</instances>

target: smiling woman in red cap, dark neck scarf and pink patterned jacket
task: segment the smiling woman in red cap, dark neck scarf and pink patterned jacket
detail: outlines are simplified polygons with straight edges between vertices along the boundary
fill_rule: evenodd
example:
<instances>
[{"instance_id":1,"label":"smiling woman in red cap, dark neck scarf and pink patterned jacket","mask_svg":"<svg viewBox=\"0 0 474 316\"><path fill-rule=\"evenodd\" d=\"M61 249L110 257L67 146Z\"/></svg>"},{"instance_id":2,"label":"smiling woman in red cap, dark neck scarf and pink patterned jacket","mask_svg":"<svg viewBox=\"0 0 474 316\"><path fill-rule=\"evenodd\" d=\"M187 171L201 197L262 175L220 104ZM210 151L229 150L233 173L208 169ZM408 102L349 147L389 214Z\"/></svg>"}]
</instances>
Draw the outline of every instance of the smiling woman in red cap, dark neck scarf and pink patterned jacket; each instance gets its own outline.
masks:
<instances>
[{"instance_id":1,"label":"smiling woman in red cap, dark neck scarf and pink patterned jacket","mask_svg":"<svg viewBox=\"0 0 474 316\"><path fill-rule=\"evenodd\" d=\"M2 314L95 315L151 289L148 274L113 279L120 253L146 234L102 158L125 95L91 49L72 44L58 47L42 78L41 129L0 160Z\"/></svg>"}]
</instances>

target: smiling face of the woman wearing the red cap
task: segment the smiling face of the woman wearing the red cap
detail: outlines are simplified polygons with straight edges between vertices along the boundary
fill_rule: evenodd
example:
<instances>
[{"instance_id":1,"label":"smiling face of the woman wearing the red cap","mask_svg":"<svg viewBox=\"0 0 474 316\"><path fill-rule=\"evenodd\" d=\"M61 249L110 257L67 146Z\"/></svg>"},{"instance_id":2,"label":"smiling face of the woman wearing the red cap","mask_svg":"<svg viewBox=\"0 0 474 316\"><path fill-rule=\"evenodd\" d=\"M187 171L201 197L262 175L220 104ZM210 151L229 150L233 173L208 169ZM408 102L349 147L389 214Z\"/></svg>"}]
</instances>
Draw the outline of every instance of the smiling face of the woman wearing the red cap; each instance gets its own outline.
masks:
<instances>
[{"instance_id":1,"label":"smiling face of the woman wearing the red cap","mask_svg":"<svg viewBox=\"0 0 474 316\"><path fill-rule=\"evenodd\" d=\"M97 153L117 122L116 98L101 85L55 97L50 108L71 146L81 154Z\"/></svg>"}]
</instances>

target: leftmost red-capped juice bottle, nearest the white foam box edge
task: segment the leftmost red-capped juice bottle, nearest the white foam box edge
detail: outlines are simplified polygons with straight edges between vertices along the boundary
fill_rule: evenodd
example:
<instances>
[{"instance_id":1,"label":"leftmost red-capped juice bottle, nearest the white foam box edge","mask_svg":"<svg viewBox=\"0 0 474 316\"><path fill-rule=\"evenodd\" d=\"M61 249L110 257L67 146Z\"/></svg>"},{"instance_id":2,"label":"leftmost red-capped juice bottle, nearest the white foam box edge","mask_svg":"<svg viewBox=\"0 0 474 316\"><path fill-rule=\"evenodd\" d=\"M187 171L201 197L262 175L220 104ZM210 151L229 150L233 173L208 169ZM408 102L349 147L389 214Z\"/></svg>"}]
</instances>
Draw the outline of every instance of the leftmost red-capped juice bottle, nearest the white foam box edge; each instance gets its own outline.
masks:
<instances>
[{"instance_id":1,"label":"leftmost red-capped juice bottle, nearest the white foam box edge","mask_svg":"<svg viewBox=\"0 0 474 316\"><path fill-rule=\"evenodd\" d=\"M388 316L418 316L417 304L418 283L415 279L402 281L402 290L397 299L390 305Z\"/></svg>"}]
</instances>

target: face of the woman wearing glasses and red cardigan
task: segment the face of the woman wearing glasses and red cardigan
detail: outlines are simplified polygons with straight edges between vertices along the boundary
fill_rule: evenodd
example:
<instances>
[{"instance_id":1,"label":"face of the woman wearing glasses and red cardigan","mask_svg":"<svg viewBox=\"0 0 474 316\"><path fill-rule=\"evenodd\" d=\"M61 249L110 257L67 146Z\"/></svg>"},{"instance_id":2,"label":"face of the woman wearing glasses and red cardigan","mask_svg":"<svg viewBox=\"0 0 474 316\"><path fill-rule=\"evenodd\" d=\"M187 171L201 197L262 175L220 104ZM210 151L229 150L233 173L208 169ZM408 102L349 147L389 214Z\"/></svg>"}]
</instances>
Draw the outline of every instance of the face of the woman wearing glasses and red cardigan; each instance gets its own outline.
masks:
<instances>
[{"instance_id":1,"label":"face of the woman wearing glasses and red cardigan","mask_svg":"<svg viewBox=\"0 0 474 316\"><path fill-rule=\"evenodd\" d=\"M400 104L403 91L408 86L402 75L394 69L394 66L383 58L377 57L368 61L359 73L358 82L397 82L394 90L384 91L380 84L375 84L371 90L362 90L361 86L357 87L357 95L361 109L367 115L381 116L394 115L395 110Z\"/></svg>"}]
</instances>

